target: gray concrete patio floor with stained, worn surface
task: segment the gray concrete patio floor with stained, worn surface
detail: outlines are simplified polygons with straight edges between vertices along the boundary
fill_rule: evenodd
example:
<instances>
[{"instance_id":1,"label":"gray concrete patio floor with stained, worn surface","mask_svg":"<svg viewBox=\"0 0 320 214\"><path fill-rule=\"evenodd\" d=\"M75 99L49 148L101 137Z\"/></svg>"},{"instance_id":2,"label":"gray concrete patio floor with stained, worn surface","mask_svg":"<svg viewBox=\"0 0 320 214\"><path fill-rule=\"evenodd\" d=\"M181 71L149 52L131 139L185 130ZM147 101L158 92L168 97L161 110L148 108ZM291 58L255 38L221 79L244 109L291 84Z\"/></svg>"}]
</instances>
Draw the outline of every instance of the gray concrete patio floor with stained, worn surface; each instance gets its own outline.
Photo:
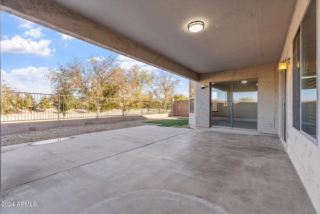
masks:
<instances>
[{"instance_id":1,"label":"gray concrete patio floor with stained, worn surface","mask_svg":"<svg viewBox=\"0 0 320 214\"><path fill-rule=\"evenodd\" d=\"M139 126L1 147L0 213L316 213L279 139ZM16 206L17 202L36 206Z\"/></svg>"}]
</instances>

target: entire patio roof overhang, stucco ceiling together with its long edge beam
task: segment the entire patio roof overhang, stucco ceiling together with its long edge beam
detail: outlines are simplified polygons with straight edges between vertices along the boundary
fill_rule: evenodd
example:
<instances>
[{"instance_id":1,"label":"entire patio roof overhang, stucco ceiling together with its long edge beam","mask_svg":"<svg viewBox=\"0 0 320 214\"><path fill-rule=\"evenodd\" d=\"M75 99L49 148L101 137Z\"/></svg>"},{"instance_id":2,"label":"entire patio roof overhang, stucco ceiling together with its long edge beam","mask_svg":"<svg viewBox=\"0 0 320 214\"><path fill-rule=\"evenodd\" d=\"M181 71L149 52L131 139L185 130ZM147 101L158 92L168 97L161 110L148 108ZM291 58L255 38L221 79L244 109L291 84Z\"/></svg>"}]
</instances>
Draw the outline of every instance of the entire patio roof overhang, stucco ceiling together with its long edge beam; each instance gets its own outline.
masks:
<instances>
[{"instance_id":1,"label":"entire patio roof overhang, stucco ceiling together with its long edge beam","mask_svg":"<svg viewBox=\"0 0 320 214\"><path fill-rule=\"evenodd\" d=\"M296 0L1 0L1 10L198 81L279 60ZM189 33L192 21L204 22Z\"/></svg>"}]
</instances>

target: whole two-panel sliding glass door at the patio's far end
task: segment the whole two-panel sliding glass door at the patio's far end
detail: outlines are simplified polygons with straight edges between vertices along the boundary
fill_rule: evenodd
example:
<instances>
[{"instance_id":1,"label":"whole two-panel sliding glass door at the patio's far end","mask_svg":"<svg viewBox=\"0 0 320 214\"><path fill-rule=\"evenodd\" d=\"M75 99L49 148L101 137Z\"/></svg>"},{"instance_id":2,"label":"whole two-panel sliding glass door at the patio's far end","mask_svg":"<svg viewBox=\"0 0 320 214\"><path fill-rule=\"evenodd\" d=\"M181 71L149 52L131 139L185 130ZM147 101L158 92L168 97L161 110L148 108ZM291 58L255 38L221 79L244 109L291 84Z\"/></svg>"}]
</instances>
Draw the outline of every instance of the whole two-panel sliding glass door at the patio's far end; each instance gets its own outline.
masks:
<instances>
[{"instance_id":1,"label":"whole two-panel sliding glass door at the patio's far end","mask_svg":"<svg viewBox=\"0 0 320 214\"><path fill-rule=\"evenodd\" d=\"M211 84L211 126L257 129L257 80Z\"/></svg>"}]
</instances>

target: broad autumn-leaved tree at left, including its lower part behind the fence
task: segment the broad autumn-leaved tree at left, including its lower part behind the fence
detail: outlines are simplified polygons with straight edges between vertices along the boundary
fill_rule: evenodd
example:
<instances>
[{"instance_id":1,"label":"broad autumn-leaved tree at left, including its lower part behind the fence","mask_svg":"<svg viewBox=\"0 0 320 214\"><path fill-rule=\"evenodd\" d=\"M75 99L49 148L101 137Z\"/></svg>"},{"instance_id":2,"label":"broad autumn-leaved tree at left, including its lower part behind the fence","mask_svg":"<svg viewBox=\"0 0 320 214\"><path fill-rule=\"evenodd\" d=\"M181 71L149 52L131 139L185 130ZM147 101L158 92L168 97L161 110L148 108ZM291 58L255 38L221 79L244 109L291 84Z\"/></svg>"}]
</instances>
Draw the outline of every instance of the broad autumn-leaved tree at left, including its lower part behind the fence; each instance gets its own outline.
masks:
<instances>
[{"instance_id":1,"label":"broad autumn-leaved tree at left, including its lower part behind the fence","mask_svg":"<svg viewBox=\"0 0 320 214\"><path fill-rule=\"evenodd\" d=\"M51 89L54 94L72 96L74 94L87 97L114 97L116 84L114 73L118 66L115 58L109 56L107 59L99 56L87 58L86 63L77 58L71 59L59 69L50 69L45 77L51 82ZM97 110L96 98L87 98L85 102L75 102L76 98L68 96L52 98L53 106L63 112L74 108L86 108L88 111ZM60 103L60 106L58 106ZM99 104L100 112L108 108L107 105Z\"/></svg>"}]
</instances>

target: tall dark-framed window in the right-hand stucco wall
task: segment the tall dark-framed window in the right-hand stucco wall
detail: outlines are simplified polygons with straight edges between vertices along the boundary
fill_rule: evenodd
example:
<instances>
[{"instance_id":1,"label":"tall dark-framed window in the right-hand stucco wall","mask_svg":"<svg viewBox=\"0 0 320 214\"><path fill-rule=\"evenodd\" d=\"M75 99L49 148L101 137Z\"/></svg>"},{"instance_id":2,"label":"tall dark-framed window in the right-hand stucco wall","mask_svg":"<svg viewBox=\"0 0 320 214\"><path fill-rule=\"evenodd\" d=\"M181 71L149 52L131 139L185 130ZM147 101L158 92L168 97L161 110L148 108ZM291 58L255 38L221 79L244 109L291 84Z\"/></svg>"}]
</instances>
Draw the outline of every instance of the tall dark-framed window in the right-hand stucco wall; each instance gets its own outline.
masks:
<instances>
[{"instance_id":1,"label":"tall dark-framed window in the right-hand stucco wall","mask_svg":"<svg viewBox=\"0 0 320 214\"><path fill-rule=\"evenodd\" d=\"M316 139L316 2L311 0L293 40L293 127Z\"/></svg>"}]
</instances>

